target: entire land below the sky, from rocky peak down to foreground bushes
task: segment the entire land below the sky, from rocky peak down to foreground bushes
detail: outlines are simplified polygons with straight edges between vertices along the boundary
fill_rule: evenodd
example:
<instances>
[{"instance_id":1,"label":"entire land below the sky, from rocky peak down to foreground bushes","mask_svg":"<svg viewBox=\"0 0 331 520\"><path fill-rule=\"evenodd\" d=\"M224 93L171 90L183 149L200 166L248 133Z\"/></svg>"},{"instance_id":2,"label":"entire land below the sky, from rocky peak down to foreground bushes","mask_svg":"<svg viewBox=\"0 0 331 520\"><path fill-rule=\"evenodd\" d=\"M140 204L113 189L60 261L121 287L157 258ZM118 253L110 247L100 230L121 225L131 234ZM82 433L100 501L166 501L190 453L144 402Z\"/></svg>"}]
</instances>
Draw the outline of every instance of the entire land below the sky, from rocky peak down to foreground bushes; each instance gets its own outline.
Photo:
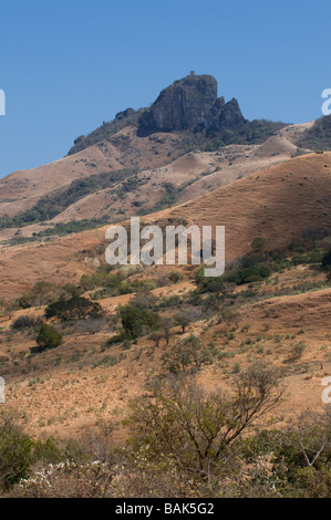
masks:
<instances>
[{"instance_id":1,"label":"entire land below the sky, from rocky peak down to foreground bushes","mask_svg":"<svg viewBox=\"0 0 331 520\"><path fill-rule=\"evenodd\" d=\"M4 493L328 493L328 121L249 122L192 73L0 180ZM225 273L108 266L132 216L225 226Z\"/></svg>"}]
</instances>

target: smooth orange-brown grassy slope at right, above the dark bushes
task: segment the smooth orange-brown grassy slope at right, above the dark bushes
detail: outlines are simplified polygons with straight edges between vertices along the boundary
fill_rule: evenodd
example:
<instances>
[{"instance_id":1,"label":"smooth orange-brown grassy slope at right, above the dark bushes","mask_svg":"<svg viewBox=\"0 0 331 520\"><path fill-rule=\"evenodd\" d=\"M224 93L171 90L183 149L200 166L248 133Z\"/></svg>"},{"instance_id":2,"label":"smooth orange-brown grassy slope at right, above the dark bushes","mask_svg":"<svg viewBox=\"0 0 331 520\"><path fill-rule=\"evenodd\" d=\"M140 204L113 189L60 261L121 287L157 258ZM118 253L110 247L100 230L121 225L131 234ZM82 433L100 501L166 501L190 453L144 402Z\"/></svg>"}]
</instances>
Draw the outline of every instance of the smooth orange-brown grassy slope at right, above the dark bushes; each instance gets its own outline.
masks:
<instances>
[{"instance_id":1,"label":"smooth orange-brown grassy slope at right, above the dark bushes","mask_svg":"<svg viewBox=\"0 0 331 520\"><path fill-rule=\"evenodd\" d=\"M255 237L283 247L311 227L331 227L331 153L308 154L271 166L167 211L199 226L226 226L230 261Z\"/></svg>"}]
</instances>

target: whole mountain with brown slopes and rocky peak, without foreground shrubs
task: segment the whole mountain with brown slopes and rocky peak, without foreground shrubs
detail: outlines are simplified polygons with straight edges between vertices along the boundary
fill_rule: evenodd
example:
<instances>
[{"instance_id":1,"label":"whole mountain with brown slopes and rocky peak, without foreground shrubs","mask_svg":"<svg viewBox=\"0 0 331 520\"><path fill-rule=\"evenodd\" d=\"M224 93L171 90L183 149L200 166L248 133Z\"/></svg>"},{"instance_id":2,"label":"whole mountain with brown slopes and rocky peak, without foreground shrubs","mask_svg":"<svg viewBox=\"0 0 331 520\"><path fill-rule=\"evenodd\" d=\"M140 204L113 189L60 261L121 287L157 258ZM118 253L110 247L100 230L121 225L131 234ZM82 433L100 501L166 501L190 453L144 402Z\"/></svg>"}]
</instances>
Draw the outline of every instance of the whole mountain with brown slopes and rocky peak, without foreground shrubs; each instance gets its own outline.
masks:
<instances>
[{"instance_id":1,"label":"whole mountain with brown slopes and rocky peak, without foreground shrubs","mask_svg":"<svg viewBox=\"0 0 331 520\"><path fill-rule=\"evenodd\" d=\"M190 74L151 107L80 136L66 157L0 180L0 375L6 406L30 435L77 438L89 426L94 436L111 420L112 446L122 446L130 399L145 399L151 383L189 374L230 395L255 363L286 386L266 427L321 406L331 370L329 124L247 121L214 77ZM162 229L225 226L225 277L110 268L105 230L132 216ZM50 316L50 303L79 305L79 319ZM84 314L91 303L102 315ZM161 324L152 334L151 312ZM42 322L62 344L37 352Z\"/></svg>"}]
</instances>

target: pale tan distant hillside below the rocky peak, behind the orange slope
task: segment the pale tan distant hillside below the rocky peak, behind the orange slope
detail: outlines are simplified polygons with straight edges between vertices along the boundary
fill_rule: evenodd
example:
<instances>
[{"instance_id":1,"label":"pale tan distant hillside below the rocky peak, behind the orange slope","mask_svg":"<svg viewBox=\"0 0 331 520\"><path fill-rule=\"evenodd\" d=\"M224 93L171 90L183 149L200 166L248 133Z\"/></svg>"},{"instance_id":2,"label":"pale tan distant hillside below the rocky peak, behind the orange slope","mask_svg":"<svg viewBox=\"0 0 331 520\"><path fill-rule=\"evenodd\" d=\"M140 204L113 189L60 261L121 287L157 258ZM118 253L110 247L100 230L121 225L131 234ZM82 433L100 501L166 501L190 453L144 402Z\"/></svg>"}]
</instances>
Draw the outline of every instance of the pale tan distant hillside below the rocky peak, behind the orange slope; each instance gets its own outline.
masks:
<instances>
[{"instance_id":1,"label":"pale tan distant hillside below the rocky peak, behind the orange slope","mask_svg":"<svg viewBox=\"0 0 331 520\"><path fill-rule=\"evenodd\" d=\"M293 125L287 129L290 128L296 136L306 132L306 125ZM18 242L17 232L22 238L45 232L51 236L55 225L76 221L76 228L68 229L80 230L80 222L83 225L84 220L87 220L89 229L89 226L115 222L136 212L145 215L174 206L230 184L297 155L291 134L281 132L261 145L228 145L218 152L199 150L180 155L177 146L183 136L179 134L138 138L133 128L126 128L114 139L127 138L128 150L117 150L122 158L116 157L117 163L111 169L111 162L105 167L107 144L103 156L100 147L92 146L27 175L12 174L2 180L0 247L1 239L4 246L10 243L8 240L11 238L14 238L13 243ZM100 159L92 163L91 157L95 153ZM179 158L176 158L178 155ZM56 185L61 187L56 188ZM25 195L21 197L23 193ZM85 228L82 226L82 229ZM60 235L61 230L55 228L54 235Z\"/></svg>"}]
</instances>

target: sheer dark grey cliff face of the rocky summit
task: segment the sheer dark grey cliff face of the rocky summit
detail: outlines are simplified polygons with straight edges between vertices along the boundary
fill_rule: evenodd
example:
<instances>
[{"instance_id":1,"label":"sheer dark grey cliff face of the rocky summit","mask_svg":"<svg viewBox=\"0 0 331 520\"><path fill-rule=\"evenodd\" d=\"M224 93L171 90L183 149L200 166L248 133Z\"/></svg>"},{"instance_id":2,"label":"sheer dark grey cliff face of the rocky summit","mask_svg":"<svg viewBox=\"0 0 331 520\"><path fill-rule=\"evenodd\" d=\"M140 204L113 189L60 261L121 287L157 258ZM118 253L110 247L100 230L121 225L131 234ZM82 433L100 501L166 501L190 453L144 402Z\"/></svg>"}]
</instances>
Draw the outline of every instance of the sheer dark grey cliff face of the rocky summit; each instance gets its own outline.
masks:
<instances>
[{"instance_id":1,"label":"sheer dark grey cliff face of the rocky summit","mask_svg":"<svg viewBox=\"0 0 331 520\"><path fill-rule=\"evenodd\" d=\"M192 73L163 90L139 118L138 135L195 129L219 131L244 123L237 100L217 98L217 81Z\"/></svg>"}]
</instances>

